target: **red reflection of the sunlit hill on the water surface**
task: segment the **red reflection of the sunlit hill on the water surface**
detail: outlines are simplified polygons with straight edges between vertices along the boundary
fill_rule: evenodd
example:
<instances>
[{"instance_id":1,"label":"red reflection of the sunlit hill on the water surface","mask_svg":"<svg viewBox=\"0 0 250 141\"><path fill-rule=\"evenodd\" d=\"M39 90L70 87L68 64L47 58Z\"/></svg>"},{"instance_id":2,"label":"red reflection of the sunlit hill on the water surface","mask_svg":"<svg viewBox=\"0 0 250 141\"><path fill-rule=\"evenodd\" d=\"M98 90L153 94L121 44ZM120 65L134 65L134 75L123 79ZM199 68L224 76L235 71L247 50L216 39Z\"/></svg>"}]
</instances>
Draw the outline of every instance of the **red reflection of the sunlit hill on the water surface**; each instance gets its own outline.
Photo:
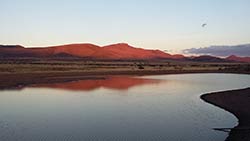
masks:
<instances>
[{"instance_id":1,"label":"red reflection of the sunlit hill on the water surface","mask_svg":"<svg viewBox=\"0 0 250 141\"><path fill-rule=\"evenodd\" d=\"M162 80L144 79L135 77L107 77L105 79L80 80L74 82L39 84L34 87L39 88L55 88L74 91L91 91L98 88L108 88L115 90L128 90L131 87L160 83Z\"/></svg>"}]
</instances>

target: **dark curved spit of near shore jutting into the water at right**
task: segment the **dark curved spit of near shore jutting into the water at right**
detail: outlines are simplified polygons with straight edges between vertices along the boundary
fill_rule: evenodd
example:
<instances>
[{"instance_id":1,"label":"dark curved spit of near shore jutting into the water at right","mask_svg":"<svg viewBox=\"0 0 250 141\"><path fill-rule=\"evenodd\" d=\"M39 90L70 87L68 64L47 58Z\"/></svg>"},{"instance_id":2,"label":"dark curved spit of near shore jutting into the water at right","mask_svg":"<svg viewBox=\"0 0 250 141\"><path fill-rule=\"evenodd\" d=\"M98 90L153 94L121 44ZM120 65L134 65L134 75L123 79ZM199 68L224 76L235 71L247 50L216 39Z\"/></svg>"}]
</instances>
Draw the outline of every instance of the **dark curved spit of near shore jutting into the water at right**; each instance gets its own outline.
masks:
<instances>
[{"instance_id":1,"label":"dark curved spit of near shore jutting into the water at right","mask_svg":"<svg viewBox=\"0 0 250 141\"><path fill-rule=\"evenodd\" d=\"M250 88L204 94L201 99L238 118L239 124L232 129L215 129L229 132L226 141L250 141Z\"/></svg>"}]
</instances>

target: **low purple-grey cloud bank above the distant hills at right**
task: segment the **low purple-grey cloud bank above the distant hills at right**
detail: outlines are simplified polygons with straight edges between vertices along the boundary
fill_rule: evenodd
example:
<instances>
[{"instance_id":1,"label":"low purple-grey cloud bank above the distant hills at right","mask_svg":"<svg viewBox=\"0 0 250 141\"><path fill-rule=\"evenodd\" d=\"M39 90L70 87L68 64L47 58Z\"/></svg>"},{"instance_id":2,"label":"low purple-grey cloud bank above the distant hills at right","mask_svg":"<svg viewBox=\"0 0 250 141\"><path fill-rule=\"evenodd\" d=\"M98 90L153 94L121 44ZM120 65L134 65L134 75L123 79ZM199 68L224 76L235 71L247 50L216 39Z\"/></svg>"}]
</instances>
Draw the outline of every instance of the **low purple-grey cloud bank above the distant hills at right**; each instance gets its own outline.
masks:
<instances>
[{"instance_id":1,"label":"low purple-grey cloud bank above the distant hills at right","mask_svg":"<svg viewBox=\"0 0 250 141\"><path fill-rule=\"evenodd\" d=\"M235 45L235 46L210 46L204 48L191 48L183 50L185 54L206 54L214 56L250 56L250 44Z\"/></svg>"}]
</instances>

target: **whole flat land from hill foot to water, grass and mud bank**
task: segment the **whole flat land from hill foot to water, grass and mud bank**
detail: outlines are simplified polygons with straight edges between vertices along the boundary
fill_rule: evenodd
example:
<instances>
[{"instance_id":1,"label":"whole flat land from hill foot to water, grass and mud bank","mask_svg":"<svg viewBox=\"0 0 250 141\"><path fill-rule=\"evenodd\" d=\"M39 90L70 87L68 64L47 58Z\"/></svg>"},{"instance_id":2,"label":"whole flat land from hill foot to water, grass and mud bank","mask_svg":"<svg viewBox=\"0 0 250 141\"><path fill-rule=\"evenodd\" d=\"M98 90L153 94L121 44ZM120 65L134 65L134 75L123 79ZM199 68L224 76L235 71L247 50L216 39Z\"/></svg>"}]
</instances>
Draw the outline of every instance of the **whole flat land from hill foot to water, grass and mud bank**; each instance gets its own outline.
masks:
<instances>
[{"instance_id":1,"label":"whole flat land from hill foot to water, grass and mud bank","mask_svg":"<svg viewBox=\"0 0 250 141\"><path fill-rule=\"evenodd\" d=\"M247 63L189 61L0 60L0 89L29 84L57 83L107 75L158 75L179 73L244 73Z\"/></svg>"}]
</instances>

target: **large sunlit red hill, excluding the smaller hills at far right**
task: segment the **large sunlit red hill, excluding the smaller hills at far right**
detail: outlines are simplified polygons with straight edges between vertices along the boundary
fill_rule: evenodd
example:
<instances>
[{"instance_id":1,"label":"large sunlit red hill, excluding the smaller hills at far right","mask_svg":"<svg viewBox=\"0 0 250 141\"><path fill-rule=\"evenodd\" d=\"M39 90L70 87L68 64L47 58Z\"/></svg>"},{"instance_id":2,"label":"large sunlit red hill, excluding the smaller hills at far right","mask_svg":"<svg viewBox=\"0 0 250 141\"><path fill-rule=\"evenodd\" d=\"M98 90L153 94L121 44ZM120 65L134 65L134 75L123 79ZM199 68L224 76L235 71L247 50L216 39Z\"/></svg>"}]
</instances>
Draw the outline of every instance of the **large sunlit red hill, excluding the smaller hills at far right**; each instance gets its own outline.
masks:
<instances>
[{"instance_id":1,"label":"large sunlit red hill, excluding the smaller hills at far right","mask_svg":"<svg viewBox=\"0 0 250 141\"><path fill-rule=\"evenodd\" d=\"M135 48L120 43L109 46L93 44L69 44L51 47L25 48L22 46L0 46L0 57L80 57L91 59L183 59L182 55L170 55L160 50Z\"/></svg>"}]
</instances>

